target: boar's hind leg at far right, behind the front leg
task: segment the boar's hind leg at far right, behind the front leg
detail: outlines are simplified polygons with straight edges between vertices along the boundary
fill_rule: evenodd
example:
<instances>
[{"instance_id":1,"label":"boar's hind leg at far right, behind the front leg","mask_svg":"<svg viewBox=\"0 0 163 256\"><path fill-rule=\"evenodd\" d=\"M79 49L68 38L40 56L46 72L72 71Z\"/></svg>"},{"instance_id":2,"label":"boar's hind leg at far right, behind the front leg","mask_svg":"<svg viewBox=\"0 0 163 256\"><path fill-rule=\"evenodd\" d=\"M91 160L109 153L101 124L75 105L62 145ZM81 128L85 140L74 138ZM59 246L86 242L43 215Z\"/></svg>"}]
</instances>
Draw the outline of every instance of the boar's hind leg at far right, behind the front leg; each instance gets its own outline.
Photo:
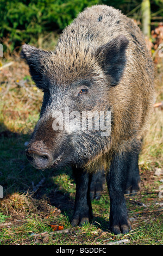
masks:
<instances>
[{"instance_id":1,"label":"boar's hind leg at far right, behind the front leg","mask_svg":"<svg viewBox=\"0 0 163 256\"><path fill-rule=\"evenodd\" d=\"M140 189L140 175L138 166L139 154L128 153L128 173L125 194L134 196Z\"/></svg>"}]
</instances>

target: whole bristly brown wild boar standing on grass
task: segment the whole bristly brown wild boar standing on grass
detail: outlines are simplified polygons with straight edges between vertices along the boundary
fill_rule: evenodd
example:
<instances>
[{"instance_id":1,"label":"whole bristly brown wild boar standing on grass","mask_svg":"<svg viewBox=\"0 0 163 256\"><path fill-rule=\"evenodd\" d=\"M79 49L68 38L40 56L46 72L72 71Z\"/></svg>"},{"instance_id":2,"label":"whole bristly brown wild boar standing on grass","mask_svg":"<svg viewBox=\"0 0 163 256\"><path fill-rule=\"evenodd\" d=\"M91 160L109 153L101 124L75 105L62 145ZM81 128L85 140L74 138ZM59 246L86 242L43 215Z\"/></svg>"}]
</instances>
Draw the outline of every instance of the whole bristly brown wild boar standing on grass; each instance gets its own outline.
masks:
<instances>
[{"instance_id":1,"label":"whole bristly brown wild boar standing on grass","mask_svg":"<svg viewBox=\"0 0 163 256\"><path fill-rule=\"evenodd\" d=\"M37 169L72 166L72 225L89 222L91 179L102 182L105 171L110 230L127 233L124 193L139 190L139 153L154 95L153 64L140 28L120 10L96 5L64 29L54 51L25 44L21 56L44 92L28 160Z\"/></svg>"}]
</instances>

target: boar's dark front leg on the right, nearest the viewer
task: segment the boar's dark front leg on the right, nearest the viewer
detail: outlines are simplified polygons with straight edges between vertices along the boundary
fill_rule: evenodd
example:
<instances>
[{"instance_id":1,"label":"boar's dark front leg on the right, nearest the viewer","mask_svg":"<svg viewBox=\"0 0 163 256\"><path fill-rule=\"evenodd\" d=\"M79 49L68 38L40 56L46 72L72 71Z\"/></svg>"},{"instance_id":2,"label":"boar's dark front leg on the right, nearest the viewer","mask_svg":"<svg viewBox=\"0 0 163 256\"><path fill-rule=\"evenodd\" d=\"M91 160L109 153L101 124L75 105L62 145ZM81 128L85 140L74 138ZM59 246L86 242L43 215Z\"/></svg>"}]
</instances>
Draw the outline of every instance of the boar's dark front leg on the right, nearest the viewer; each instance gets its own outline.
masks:
<instances>
[{"instance_id":1,"label":"boar's dark front leg on the right, nearest the viewer","mask_svg":"<svg viewBox=\"0 0 163 256\"><path fill-rule=\"evenodd\" d=\"M114 234L125 234L131 229L124 199L127 169L127 156L124 153L115 155L106 176L110 196L110 229Z\"/></svg>"}]
</instances>

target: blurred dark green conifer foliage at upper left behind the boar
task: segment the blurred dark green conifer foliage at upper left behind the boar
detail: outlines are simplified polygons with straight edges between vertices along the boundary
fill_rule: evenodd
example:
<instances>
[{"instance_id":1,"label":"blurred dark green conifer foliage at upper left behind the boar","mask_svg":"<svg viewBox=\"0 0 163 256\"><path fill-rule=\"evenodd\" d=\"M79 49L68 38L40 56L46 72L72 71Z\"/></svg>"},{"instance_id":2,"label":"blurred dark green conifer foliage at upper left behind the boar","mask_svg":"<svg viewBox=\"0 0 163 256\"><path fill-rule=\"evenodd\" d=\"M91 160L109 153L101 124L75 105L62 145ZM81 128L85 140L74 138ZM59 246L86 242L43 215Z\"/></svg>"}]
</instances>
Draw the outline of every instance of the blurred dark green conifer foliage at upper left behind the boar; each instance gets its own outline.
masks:
<instances>
[{"instance_id":1,"label":"blurred dark green conifer foliage at upper left behind the boar","mask_svg":"<svg viewBox=\"0 0 163 256\"><path fill-rule=\"evenodd\" d=\"M38 44L51 32L65 28L85 7L98 0L4 1L0 3L0 37L13 51L22 42Z\"/></svg>"}]
</instances>

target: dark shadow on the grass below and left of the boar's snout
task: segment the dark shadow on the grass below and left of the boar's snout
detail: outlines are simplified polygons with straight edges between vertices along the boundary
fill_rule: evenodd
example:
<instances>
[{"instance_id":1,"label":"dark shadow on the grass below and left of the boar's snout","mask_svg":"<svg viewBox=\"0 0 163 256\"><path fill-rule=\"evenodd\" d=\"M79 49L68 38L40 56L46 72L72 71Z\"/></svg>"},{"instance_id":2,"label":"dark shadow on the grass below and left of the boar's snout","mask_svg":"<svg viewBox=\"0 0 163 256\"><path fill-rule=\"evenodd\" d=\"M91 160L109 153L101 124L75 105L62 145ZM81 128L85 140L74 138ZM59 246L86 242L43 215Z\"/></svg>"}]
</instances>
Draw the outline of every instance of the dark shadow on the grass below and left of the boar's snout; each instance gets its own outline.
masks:
<instances>
[{"instance_id":1,"label":"dark shadow on the grass below and left of the boar's snout","mask_svg":"<svg viewBox=\"0 0 163 256\"><path fill-rule=\"evenodd\" d=\"M61 210L70 220L73 214L75 182L73 180L71 167L59 170L47 169L37 170L28 162L25 155L26 142L30 134L11 132L0 124L0 185L3 186L4 198L13 193L30 193L33 198L47 198L49 204ZM73 192L60 189L55 182L55 177L67 175L71 179ZM103 218L93 217L92 223L107 228L108 222Z\"/></svg>"}]
</instances>

